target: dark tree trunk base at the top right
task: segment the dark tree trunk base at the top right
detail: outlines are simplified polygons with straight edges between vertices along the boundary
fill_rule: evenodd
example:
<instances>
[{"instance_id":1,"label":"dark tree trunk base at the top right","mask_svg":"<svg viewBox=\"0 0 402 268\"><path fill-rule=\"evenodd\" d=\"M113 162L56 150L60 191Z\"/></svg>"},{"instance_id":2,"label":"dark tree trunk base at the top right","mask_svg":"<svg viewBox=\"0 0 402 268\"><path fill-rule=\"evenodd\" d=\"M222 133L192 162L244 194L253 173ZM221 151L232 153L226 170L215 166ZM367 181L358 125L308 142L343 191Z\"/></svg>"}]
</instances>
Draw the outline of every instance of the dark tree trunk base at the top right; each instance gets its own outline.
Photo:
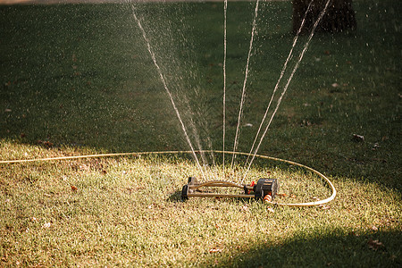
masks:
<instances>
[{"instance_id":1,"label":"dark tree trunk base at the top right","mask_svg":"<svg viewBox=\"0 0 402 268\"><path fill-rule=\"evenodd\" d=\"M306 15L306 22L301 29L302 33L309 32L317 21L327 0L293 0L293 32L297 33L305 17L308 4L313 1ZM347 29L356 29L355 11L352 9L352 0L330 0L327 12L318 24L316 31L340 32Z\"/></svg>"}]
</instances>

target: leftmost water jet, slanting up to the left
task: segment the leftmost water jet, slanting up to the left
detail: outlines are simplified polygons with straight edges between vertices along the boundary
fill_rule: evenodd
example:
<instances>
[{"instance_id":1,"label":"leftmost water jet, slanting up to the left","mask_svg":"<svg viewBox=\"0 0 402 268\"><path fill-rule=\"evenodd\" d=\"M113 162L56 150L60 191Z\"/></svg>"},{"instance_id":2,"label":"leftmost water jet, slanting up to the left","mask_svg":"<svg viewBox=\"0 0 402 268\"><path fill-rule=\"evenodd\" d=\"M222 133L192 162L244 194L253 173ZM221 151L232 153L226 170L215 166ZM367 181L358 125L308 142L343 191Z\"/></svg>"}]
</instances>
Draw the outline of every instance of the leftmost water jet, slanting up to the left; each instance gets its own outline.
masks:
<instances>
[{"instance_id":1,"label":"leftmost water jet, slanting up to the left","mask_svg":"<svg viewBox=\"0 0 402 268\"><path fill-rule=\"evenodd\" d=\"M198 167L198 169L200 170L200 172L201 172L201 174L202 174L202 176L203 176L203 179L205 180L205 174L204 174L203 168L201 167L201 164L199 163L198 157L197 157L197 155L196 155L196 151L194 150L194 147L193 147L193 145L191 144L190 139L188 138L188 133L187 133L186 127L184 126L184 123L183 123L183 121L181 120L181 116L180 116L179 110L178 110L176 104L174 103L173 96L172 96L172 92L171 92L171 90L169 90L169 88L168 88L168 86L167 86L167 84L166 84L166 81L164 80L164 77L163 77L163 73L162 73L162 71L161 71L161 68L159 67L159 64L156 62L155 53L154 53L154 51L153 51L153 49L152 49L151 44L149 43L149 40L148 40L148 38L147 38L147 33L146 33L146 31L145 31L145 29L142 27L141 21L139 21L139 19L138 19L138 17L137 17L136 8L135 8L135 6L134 6L133 4L131 4L131 10L132 10L132 14L133 14L134 20L137 21L138 28L141 30L142 36L143 36L143 38L145 39L145 41L146 41L146 43L147 43L147 50L148 50L149 54L151 55L152 61L153 61L154 64L155 64L156 70L157 70L157 72L158 72L158 74L159 74L159 78L161 79L161 81L162 81L162 83L163 83L163 88L166 90L167 94L169 95L169 98L170 98L170 100L171 100L171 102L172 102L173 109L174 109L174 111L175 111L175 113L176 113L177 118L178 118L179 121L180 121L181 129L182 129L183 132L184 132L184 136L185 136L185 138L186 138L186 140L187 140L187 142L188 142L188 146L189 146L190 149L191 149L192 155L194 156L194 159L196 160L197 167Z\"/></svg>"}]
</instances>

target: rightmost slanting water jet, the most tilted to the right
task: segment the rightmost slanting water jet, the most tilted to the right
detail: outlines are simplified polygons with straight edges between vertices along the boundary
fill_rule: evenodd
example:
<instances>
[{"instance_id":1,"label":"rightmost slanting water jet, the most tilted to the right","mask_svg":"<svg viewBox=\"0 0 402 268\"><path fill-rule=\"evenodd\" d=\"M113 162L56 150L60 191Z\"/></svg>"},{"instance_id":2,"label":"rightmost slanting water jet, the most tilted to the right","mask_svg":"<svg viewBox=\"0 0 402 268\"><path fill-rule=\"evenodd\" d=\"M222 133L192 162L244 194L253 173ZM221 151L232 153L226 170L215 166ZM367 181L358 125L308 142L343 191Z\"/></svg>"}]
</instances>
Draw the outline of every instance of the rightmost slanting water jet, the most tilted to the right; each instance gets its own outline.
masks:
<instances>
[{"instance_id":1,"label":"rightmost slanting water jet, the most tilted to the right","mask_svg":"<svg viewBox=\"0 0 402 268\"><path fill-rule=\"evenodd\" d=\"M285 95L286 91L288 90L288 88L289 88L289 83L290 83L290 81L293 79L293 76L294 76L295 72L297 71L298 65L300 64L301 60L303 59L303 56L305 55L305 53L306 53L306 51L307 51L307 48L308 48L308 46L310 45L310 41L311 41L311 39L312 39L313 36L314 36L315 29L317 28L318 23L320 23L320 21L322 20L322 17L323 17L323 15L324 15L324 13L326 13L327 8L328 8L328 5L330 4L330 2L331 2L331 0L327 0L327 2L326 2L326 4L325 4L324 8L322 9L322 12L320 13L320 15L319 15L317 21L314 22L313 28L311 29L310 35L309 35L309 37L308 37L308 39L307 39L307 42L306 42L305 46L303 47L302 52L299 54L297 63L295 64L295 67L293 68L293 71L290 73L289 79L288 79L288 81L287 81L285 87L283 88L283 91L282 91L282 93L281 93L280 98L278 99L278 102L277 102L277 104L276 104L275 110L273 111L273 113L272 113L272 115L271 115L270 121L268 122L267 126L265 127L263 136L260 138L260 141L258 142L258 146L255 148L255 152L253 153L253 157L252 157L250 163L248 163L247 171L245 172L245 174L244 174L244 176L243 176L243 179L240 181L240 184L243 183L243 181L245 180L245 178L246 178L246 176L247 176L247 172L250 170L251 164L253 163L253 161L254 161L254 159L255 159L255 155L257 154L258 149L260 148L261 143L263 142L263 139L264 139L264 137L265 137L265 134L266 134L266 132L268 131L268 129L269 129L271 123L272 123L272 119L273 119L273 117L275 116L276 112L278 111L279 106L281 105L282 97Z\"/></svg>"}]
</instances>

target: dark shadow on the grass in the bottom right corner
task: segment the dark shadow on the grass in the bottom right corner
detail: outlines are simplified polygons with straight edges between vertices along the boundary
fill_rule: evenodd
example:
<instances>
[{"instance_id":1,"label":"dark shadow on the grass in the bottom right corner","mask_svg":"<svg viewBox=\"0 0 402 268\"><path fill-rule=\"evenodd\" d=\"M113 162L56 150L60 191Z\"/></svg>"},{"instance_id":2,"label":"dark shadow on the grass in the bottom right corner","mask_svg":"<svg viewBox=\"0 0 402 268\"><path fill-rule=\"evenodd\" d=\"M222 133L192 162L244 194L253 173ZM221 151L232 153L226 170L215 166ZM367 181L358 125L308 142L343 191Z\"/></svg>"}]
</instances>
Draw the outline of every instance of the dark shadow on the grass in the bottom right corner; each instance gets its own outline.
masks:
<instances>
[{"instance_id":1,"label":"dark shadow on the grass in the bottom right corner","mask_svg":"<svg viewBox=\"0 0 402 268\"><path fill-rule=\"evenodd\" d=\"M376 231L357 234L343 230L314 230L270 245L261 235L251 248L241 253L214 253L201 266L220 267L400 267L402 239L399 231Z\"/></svg>"}]
</instances>

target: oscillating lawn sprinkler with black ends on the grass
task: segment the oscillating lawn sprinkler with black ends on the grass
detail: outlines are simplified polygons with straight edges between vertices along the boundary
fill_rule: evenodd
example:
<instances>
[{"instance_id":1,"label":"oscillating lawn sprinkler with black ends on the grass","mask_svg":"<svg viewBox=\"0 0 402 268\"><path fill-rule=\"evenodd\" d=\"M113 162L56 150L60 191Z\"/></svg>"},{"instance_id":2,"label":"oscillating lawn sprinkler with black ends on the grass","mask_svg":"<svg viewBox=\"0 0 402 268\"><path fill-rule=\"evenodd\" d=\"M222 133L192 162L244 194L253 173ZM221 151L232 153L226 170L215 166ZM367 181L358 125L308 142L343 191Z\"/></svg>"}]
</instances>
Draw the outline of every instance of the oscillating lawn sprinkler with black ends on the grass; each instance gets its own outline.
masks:
<instances>
[{"instance_id":1,"label":"oscillating lawn sprinkler with black ends on the grass","mask_svg":"<svg viewBox=\"0 0 402 268\"><path fill-rule=\"evenodd\" d=\"M214 188L241 188L239 194L219 193ZM271 202L279 190L277 179L259 179L257 183L253 181L250 185L239 184L226 180L211 180L198 182L197 178L189 177L188 184L181 190L181 200L188 197L235 197L235 198L255 198Z\"/></svg>"}]
</instances>

